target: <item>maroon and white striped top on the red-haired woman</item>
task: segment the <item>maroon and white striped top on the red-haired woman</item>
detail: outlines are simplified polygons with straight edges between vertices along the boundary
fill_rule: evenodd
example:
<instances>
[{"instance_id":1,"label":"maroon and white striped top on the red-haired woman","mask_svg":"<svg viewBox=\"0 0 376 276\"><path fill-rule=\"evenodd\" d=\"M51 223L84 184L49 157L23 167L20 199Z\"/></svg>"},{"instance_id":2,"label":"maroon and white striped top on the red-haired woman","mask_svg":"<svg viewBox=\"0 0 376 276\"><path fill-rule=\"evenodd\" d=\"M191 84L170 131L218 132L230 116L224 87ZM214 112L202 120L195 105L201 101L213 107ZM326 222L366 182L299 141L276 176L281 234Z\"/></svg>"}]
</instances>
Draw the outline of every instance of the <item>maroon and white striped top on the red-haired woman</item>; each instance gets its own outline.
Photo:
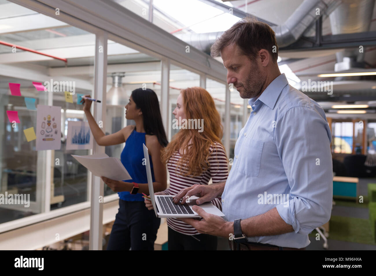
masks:
<instances>
[{"instance_id":1,"label":"maroon and white striped top on the red-haired woman","mask_svg":"<svg viewBox=\"0 0 376 276\"><path fill-rule=\"evenodd\" d=\"M179 173L179 168L176 170L177 173L175 173L176 164L181 158L179 152L176 151L170 157L167 163L167 169L170 173L170 187L168 187L168 189L164 190L163 192L167 193L167 195L177 195L180 190L191 187L194 184L208 185L210 178L212 178L213 184L226 181L228 176L228 162L227 156L223 149L223 145L218 142L214 142L214 149L213 145L210 146L209 154L209 168L200 176L189 177L177 174ZM183 172L187 170L185 164L186 163L183 163L183 166L180 168L180 170L182 170ZM221 197L215 198L212 203L219 210L222 210ZM196 228L185 222L182 222L179 219L167 218L167 225L173 230L185 235L200 234L199 232L197 232Z\"/></svg>"}]
</instances>

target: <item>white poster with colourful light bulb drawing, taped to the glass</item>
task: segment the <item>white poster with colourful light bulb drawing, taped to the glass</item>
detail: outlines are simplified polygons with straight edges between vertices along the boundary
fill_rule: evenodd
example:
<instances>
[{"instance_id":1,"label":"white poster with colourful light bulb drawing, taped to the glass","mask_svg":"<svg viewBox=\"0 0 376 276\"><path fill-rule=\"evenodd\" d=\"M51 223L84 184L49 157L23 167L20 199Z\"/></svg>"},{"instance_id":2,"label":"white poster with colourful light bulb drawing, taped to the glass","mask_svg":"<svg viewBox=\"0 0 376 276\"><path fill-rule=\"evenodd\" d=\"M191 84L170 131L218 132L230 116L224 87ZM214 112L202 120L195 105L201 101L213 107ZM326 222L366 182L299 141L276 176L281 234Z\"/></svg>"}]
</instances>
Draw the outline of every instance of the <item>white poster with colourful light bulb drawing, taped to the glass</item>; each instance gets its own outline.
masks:
<instances>
[{"instance_id":1,"label":"white poster with colourful light bulb drawing, taped to the glass","mask_svg":"<svg viewBox=\"0 0 376 276\"><path fill-rule=\"evenodd\" d=\"M60 149L61 147L61 107L36 107L36 150Z\"/></svg>"}]
</instances>

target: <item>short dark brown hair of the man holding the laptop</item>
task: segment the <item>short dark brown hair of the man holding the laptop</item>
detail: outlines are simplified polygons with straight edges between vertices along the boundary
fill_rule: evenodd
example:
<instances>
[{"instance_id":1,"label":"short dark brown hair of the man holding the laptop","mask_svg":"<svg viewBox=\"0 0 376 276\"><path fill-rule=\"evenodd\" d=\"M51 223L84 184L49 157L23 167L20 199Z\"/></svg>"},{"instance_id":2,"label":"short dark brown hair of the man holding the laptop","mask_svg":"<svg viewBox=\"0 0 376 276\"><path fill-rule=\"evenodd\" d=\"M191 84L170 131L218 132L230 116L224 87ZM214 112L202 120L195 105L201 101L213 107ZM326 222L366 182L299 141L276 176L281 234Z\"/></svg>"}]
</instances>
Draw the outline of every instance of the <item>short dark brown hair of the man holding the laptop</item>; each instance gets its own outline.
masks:
<instances>
[{"instance_id":1,"label":"short dark brown hair of the man holding the laptop","mask_svg":"<svg viewBox=\"0 0 376 276\"><path fill-rule=\"evenodd\" d=\"M213 43L210 55L212 57L220 56L221 50L233 43L237 44L241 53L249 56L250 59L255 59L258 55L257 52L265 49L270 53L273 62L277 62L278 45L275 33L268 24L258 21L256 18L245 17L233 24Z\"/></svg>"}]
</instances>

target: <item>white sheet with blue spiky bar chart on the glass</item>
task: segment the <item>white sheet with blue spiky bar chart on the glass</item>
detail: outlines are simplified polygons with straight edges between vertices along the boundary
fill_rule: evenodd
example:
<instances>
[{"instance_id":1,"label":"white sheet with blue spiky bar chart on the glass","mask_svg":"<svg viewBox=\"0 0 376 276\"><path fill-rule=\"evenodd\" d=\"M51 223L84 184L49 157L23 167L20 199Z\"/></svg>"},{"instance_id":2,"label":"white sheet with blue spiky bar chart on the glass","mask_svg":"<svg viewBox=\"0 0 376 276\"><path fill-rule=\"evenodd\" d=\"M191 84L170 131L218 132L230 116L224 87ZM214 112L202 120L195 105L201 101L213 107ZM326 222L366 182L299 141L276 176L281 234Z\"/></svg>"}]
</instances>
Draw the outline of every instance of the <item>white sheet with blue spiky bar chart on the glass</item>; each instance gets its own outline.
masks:
<instances>
[{"instance_id":1,"label":"white sheet with blue spiky bar chart on the glass","mask_svg":"<svg viewBox=\"0 0 376 276\"><path fill-rule=\"evenodd\" d=\"M68 121L66 149L92 149L93 140L88 122Z\"/></svg>"}]
</instances>

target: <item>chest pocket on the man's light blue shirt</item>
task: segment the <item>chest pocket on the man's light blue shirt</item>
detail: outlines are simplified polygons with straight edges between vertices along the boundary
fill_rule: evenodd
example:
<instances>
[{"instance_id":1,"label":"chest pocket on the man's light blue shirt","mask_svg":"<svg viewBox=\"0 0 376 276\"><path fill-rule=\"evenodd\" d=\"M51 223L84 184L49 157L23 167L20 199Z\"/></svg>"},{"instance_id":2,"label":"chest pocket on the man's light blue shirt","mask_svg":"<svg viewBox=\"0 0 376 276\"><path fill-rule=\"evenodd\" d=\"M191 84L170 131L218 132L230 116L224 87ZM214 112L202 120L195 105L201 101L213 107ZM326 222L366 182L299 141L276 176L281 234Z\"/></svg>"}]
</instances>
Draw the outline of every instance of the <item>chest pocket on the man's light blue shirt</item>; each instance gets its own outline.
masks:
<instances>
[{"instance_id":1,"label":"chest pocket on the man's light blue shirt","mask_svg":"<svg viewBox=\"0 0 376 276\"><path fill-rule=\"evenodd\" d=\"M258 176L260 172L261 153L264 142L247 139L241 148L238 171L247 176Z\"/></svg>"}]
</instances>

